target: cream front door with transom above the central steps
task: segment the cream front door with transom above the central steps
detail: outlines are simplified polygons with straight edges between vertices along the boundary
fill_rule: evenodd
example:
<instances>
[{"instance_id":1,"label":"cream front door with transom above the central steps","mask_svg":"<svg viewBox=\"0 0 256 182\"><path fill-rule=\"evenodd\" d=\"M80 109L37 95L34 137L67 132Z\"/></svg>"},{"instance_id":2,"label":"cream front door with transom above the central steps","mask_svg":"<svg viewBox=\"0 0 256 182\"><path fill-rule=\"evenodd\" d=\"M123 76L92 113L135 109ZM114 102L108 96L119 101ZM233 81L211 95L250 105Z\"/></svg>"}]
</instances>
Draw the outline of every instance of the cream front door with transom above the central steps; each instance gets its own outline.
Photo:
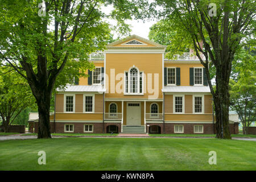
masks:
<instances>
[{"instance_id":1,"label":"cream front door with transom above the central steps","mask_svg":"<svg viewBox=\"0 0 256 182\"><path fill-rule=\"evenodd\" d=\"M141 103L140 102L127 102L126 125L141 126Z\"/></svg>"}]
</instances>

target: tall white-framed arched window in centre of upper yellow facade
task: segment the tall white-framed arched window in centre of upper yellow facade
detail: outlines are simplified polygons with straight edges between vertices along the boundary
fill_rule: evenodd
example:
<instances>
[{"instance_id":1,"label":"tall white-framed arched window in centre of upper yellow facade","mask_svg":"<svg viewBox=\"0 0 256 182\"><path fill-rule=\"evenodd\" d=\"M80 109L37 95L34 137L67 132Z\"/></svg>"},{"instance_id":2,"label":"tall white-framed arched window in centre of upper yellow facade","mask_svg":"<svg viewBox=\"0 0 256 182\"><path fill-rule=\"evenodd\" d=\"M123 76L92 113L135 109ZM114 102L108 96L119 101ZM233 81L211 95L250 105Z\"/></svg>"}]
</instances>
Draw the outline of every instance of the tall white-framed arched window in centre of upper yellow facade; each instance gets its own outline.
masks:
<instances>
[{"instance_id":1,"label":"tall white-framed arched window in centre of upper yellow facade","mask_svg":"<svg viewBox=\"0 0 256 182\"><path fill-rule=\"evenodd\" d=\"M143 72L138 72L137 68L131 68L125 72L125 93L143 93L142 89Z\"/></svg>"}]
</instances>

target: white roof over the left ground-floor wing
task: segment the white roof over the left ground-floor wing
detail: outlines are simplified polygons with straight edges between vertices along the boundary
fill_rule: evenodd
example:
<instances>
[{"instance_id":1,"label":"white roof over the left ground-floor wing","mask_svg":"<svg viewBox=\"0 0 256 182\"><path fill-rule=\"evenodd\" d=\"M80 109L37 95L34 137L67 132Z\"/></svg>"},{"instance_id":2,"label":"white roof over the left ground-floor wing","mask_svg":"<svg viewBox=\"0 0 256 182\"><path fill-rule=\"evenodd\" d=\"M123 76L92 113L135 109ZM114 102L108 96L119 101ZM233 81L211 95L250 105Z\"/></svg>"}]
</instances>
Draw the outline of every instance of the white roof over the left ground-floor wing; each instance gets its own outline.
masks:
<instances>
[{"instance_id":1,"label":"white roof over the left ground-floor wing","mask_svg":"<svg viewBox=\"0 0 256 182\"><path fill-rule=\"evenodd\" d=\"M65 89L57 89L58 92L106 92L101 85L68 85Z\"/></svg>"}]
</instances>

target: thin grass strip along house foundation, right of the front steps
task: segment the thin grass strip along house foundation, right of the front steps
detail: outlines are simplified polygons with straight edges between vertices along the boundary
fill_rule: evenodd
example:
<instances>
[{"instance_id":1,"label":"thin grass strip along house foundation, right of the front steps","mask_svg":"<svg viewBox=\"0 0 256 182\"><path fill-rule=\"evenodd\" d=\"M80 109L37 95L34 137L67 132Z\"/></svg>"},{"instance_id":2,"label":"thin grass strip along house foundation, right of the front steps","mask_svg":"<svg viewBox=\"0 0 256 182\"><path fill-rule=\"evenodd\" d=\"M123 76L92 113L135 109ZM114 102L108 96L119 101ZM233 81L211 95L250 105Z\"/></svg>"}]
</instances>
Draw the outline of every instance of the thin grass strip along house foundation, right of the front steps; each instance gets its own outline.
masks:
<instances>
[{"instance_id":1,"label":"thin grass strip along house foundation, right of the front steps","mask_svg":"<svg viewBox=\"0 0 256 182\"><path fill-rule=\"evenodd\" d=\"M216 137L216 134L149 134L150 137ZM256 138L256 135L232 134L232 137Z\"/></svg>"}]
</instances>

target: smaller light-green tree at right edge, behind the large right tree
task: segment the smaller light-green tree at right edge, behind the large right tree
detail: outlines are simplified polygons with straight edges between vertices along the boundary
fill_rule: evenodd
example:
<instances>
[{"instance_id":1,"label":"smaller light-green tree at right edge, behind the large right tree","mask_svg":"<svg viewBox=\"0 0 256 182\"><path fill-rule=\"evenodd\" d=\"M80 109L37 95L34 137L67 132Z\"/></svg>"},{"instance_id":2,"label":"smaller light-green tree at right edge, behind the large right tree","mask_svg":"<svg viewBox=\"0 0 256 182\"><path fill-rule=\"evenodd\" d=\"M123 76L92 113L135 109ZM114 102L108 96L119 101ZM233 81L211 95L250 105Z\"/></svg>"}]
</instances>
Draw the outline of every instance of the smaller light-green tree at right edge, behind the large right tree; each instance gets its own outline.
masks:
<instances>
[{"instance_id":1,"label":"smaller light-green tree at right edge, behind the large right tree","mask_svg":"<svg viewBox=\"0 0 256 182\"><path fill-rule=\"evenodd\" d=\"M246 51L247 52L247 51ZM234 63L234 80L230 80L230 107L235 110L243 125L243 134L255 121L256 116L256 65L255 56L242 49L240 61Z\"/></svg>"}]
</instances>

